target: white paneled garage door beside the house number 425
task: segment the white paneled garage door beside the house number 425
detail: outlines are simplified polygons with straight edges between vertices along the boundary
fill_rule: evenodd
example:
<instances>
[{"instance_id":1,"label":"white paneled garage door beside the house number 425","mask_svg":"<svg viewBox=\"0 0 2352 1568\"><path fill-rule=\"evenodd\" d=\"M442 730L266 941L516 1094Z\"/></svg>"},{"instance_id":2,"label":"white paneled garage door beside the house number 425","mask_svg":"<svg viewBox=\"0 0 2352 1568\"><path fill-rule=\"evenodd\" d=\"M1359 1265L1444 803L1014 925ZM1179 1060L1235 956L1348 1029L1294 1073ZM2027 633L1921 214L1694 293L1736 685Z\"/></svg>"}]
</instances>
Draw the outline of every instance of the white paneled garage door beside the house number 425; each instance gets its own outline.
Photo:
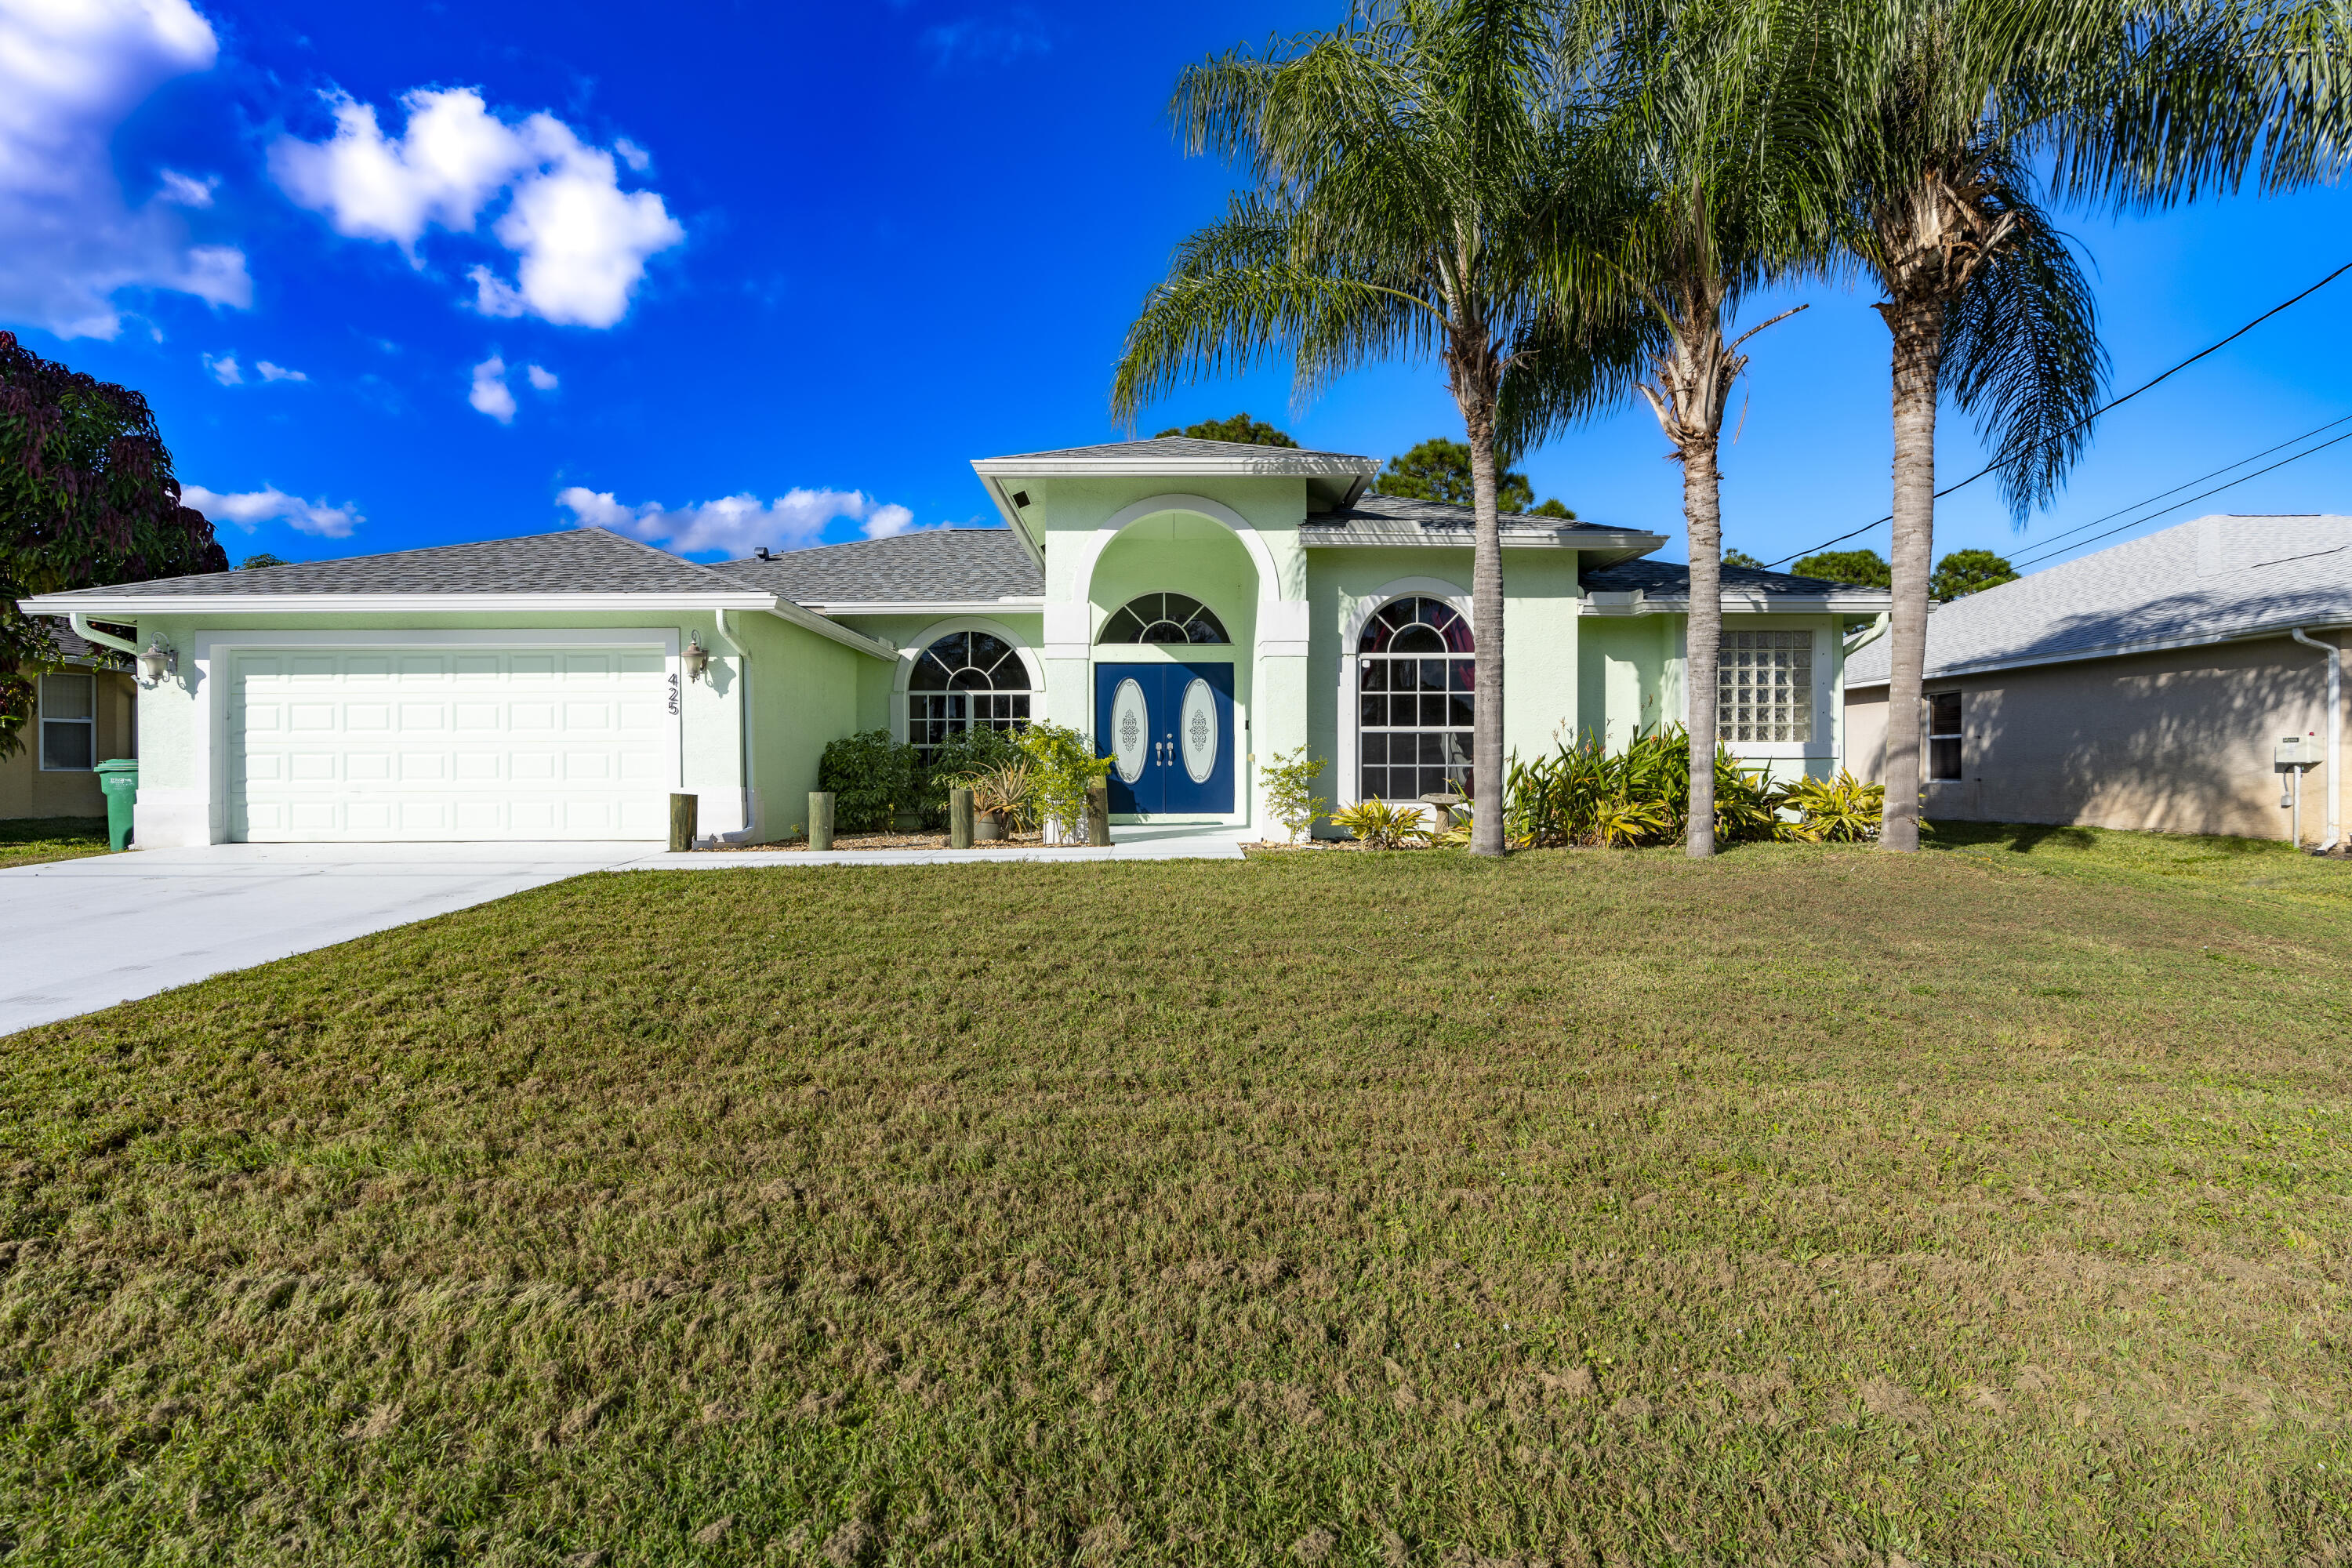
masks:
<instances>
[{"instance_id":1,"label":"white paneled garage door beside the house number 425","mask_svg":"<svg viewBox=\"0 0 2352 1568\"><path fill-rule=\"evenodd\" d=\"M673 736L649 646L235 654L228 835L659 839Z\"/></svg>"}]
</instances>

